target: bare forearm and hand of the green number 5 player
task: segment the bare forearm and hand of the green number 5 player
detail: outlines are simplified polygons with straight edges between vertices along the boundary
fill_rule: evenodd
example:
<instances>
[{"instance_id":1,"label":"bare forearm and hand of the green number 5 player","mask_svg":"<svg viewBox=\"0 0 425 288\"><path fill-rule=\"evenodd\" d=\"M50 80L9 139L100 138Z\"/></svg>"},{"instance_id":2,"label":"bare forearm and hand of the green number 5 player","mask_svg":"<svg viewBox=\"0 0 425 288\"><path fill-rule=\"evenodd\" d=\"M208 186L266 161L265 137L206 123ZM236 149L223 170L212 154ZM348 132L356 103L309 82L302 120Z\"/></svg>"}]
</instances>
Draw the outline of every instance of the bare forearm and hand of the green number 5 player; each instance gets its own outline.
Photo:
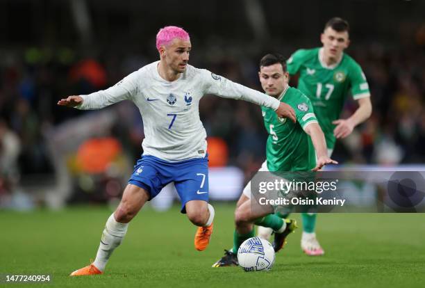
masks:
<instances>
[{"instance_id":1,"label":"bare forearm and hand of the green number 5 player","mask_svg":"<svg viewBox=\"0 0 425 288\"><path fill-rule=\"evenodd\" d=\"M338 164L337 161L332 160L328 157L328 152L326 150L326 141L322 129L320 128L317 122L312 122L308 124L304 131L310 136L313 146L316 150L317 162L316 167L313 168L313 171L318 171L323 168L326 164Z\"/></svg>"}]
</instances>

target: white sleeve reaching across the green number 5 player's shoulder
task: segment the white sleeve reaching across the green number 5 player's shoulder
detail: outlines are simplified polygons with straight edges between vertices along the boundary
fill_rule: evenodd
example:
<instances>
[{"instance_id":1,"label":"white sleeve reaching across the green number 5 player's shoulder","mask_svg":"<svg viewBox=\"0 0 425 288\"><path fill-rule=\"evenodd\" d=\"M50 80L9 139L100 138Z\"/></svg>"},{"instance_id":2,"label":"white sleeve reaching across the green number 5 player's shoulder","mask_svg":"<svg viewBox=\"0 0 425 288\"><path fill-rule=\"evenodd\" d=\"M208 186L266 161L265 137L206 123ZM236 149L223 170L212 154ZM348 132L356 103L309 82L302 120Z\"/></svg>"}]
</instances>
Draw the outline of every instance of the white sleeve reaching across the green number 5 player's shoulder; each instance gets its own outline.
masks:
<instances>
[{"instance_id":1,"label":"white sleeve reaching across the green number 5 player's shoulder","mask_svg":"<svg viewBox=\"0 0 425 288\"><path fill-rule=\"evenodd\" d=\"M260 93L257 90L232 82L222 76L211 73L208 70L201 69L203 80L203 91L206 94L214 94L219 97L242 99L260 106L278 109L281 103L278 99Z\"/></svg>"}]
</instances>

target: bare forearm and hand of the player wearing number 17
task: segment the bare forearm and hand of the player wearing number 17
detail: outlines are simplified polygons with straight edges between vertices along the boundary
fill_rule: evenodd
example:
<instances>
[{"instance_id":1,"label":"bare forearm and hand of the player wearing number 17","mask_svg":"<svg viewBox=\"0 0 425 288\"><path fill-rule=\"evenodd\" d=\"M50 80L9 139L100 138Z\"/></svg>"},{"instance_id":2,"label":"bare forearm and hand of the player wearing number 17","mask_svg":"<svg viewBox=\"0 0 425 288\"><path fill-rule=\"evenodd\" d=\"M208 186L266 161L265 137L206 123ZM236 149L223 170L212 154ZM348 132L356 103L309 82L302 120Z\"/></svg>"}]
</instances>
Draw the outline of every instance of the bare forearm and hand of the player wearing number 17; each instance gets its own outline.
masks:
<instances>
[{"instance_id":1,"label":"bare forearm and hand of the player wearing number 17","mask_svg":"<svg viewBox=\"0 0 425 288\"><path fill-rule=\"evenodd\" d=\"M360 98L357 102L358 109L350 118L338 119L332 122L332 124L337 125L335 129L333 129L333 135L335 135L336 138L345 138L349 136L354 127L364 122L372 115L372 102L370 102L370 97Z\"/></svg>"}]
</instances>

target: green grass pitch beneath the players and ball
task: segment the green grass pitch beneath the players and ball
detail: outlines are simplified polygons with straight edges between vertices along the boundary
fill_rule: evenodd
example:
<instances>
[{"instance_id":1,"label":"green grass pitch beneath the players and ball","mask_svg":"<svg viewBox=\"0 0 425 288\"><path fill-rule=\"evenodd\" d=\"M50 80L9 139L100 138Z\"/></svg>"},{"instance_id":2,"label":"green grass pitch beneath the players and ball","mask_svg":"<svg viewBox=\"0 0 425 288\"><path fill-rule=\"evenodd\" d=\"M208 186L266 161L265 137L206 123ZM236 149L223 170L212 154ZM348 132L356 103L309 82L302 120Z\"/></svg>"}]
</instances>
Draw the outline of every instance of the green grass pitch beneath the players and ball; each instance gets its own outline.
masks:
<instances>
[{"instance_id":1,"label":"green grass pitch beneath the players and ball","mask_svg":"<svg viewBox=\"0 0 425 288\"><path fill-rule=\"evenodd\" d=\"M210 246L194 250L195 227L178 207L143 209L104 275L71 278L89 263L110 210L0 211L0 273L51 274L51 283L5 287L425 287L424 214L320 214L323 257L301 253L301 229L276 255L272 271L211 268L230 248L232 204L216 204ZM299 219L299 215L294 214Z\"/></svg>"}]
</instances>

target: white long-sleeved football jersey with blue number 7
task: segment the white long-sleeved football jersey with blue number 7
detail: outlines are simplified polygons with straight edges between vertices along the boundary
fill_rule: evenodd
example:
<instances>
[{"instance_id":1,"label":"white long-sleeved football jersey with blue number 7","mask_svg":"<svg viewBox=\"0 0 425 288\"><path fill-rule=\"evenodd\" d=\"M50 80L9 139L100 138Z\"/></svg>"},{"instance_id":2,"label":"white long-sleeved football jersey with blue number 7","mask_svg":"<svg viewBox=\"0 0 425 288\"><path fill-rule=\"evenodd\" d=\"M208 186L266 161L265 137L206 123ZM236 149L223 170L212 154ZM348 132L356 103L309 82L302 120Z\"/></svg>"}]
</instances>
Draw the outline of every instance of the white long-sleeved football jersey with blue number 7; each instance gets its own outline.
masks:
<instances>
[{"instance_id":1,"label":"white long-sleeved football jersey with blue number 7","mask_svg":"<svg viewBox=\"0 0 425 288\"><path fill-rule=\"evenodd\" d=\"M176 81L169 82L160 77L158 63L140 68L106 90L81 95L83 104L76 108L101 109L131 100L142 114L143 154L175 162L206 155L206 131L199 119L203 95L243 99L274 110L280 104L278 99L191 65Z\"/></svg>"}]
</instances>

